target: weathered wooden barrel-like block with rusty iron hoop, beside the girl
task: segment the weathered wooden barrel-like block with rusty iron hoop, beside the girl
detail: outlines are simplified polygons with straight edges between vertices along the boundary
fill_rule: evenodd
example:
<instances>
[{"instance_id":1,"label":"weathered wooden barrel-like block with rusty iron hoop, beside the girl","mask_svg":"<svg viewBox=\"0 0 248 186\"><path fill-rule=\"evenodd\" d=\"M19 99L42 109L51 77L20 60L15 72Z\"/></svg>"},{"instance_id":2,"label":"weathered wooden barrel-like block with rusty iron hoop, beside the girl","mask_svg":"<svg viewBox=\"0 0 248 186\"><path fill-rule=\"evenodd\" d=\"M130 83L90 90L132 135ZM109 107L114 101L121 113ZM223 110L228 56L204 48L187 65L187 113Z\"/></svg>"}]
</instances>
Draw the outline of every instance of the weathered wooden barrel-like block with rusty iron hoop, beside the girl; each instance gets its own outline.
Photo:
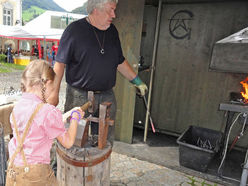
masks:
<instances>
[{"instance_id":1,"label":"weathered wooden barrel-like block with rusty iron hoop, beside the girl","mask_svg":"<svg viewBox=\"0 0 248 186\"><path fill-rule=\"evenodd\" d=\"M111 145L65 149L57 143L57 180L60 186L109 186Z\"/></svg>"}]
</instances>

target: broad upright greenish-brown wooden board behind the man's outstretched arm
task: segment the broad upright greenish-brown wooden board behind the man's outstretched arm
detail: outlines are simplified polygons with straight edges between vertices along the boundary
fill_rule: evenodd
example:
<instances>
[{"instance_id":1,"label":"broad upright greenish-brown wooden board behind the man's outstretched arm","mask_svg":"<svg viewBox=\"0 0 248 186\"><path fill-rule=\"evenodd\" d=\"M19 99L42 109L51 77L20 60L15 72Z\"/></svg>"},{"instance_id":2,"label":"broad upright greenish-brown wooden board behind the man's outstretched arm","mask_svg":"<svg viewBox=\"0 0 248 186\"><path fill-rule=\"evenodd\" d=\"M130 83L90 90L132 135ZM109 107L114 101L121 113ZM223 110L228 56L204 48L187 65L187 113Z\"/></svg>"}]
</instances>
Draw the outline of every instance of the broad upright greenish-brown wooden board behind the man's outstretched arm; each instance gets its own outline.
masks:
<instances>
[{"instance_id":1,"label":"broad upright greenish-brown wooden board behind the man's outstretched arm","mask_svg":"<svg viewBox=\"0 0 248 186\"><path fill-rule=\"evenodd\" d=\"M119 31L124 56L136 72L138 71L144 4L144 0L119 0L116 9L117 18L114 22ZM131 143L135 88L118 74L114 91L117 98L115 138Z\"/></svg>"}]
</instances>

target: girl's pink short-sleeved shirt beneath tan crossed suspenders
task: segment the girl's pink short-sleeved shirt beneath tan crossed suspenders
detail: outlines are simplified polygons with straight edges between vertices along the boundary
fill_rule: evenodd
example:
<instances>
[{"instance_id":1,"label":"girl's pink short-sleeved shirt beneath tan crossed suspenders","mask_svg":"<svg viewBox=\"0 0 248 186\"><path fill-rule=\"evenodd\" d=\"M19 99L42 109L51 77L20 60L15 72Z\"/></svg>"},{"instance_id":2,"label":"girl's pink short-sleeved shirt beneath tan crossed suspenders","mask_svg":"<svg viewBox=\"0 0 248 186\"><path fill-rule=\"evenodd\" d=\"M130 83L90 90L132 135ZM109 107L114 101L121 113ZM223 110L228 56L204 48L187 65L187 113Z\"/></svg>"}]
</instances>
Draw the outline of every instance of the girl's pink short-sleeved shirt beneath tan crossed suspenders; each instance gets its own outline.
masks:
<instances>
[{"instance_id":1,"label":"girl's pink short-sleeved shirt beneath tan crossed suspenders","mask_svg":"<svg viewBox=\"0 0 248 186\"><path fill-rule=\"evenodd\" d=\"M20 101L13 109L16 118L16 124L20 138L26 128L27 122L33 114L35 108L42 100L34 94L23 93ZM9 157L14 154L18 142L16 132L10 116L11 127L13 129L13 138L9 142ZM36 114L29 132L25 138L23 149L28 164L50 164L50 149L53 140L65 134L66 129L62 121L61 112L50 104L44 104L40 111ZM23 159L19 153L14 161L15 166L23 166Z\"/></svg>"}]
</instances>

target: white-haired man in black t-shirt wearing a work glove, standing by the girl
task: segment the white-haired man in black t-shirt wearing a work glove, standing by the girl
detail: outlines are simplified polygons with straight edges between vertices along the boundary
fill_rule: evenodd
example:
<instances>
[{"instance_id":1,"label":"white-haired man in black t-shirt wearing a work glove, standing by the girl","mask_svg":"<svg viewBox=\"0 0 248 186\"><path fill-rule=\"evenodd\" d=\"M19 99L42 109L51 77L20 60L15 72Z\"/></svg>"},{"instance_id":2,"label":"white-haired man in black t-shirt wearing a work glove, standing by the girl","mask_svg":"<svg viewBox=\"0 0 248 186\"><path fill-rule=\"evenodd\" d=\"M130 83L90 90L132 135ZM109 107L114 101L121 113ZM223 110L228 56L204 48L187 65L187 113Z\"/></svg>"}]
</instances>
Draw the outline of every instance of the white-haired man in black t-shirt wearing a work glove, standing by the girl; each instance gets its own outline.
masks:
<instances>
[{"instance_id":1,"label":"white-haired man in black t-shirt wearing a work glove, standing by the girl","mask_svg":"<svg viewBox=\"0 0 248 186\"><path fill-rule=\"evenodd\" d=\"M57 78L57 94L66 68L65 111L87 101L87 92L94 91L95 104L111 102L110 118L115 119L116 100L112 88L118 70L145 95L147 86L134 72L122 54L116 27L118 0L88 0L88 17L71 23L60 40L54 70ZM51 99L51 102L56 99ZM54 102L54 104L57 104ZM95 116L98 113L94 113ZM93 132L97 131L97 128ZM109 128L108 141L114 140L114 127Z\"/></svg>"}]
</instances>

